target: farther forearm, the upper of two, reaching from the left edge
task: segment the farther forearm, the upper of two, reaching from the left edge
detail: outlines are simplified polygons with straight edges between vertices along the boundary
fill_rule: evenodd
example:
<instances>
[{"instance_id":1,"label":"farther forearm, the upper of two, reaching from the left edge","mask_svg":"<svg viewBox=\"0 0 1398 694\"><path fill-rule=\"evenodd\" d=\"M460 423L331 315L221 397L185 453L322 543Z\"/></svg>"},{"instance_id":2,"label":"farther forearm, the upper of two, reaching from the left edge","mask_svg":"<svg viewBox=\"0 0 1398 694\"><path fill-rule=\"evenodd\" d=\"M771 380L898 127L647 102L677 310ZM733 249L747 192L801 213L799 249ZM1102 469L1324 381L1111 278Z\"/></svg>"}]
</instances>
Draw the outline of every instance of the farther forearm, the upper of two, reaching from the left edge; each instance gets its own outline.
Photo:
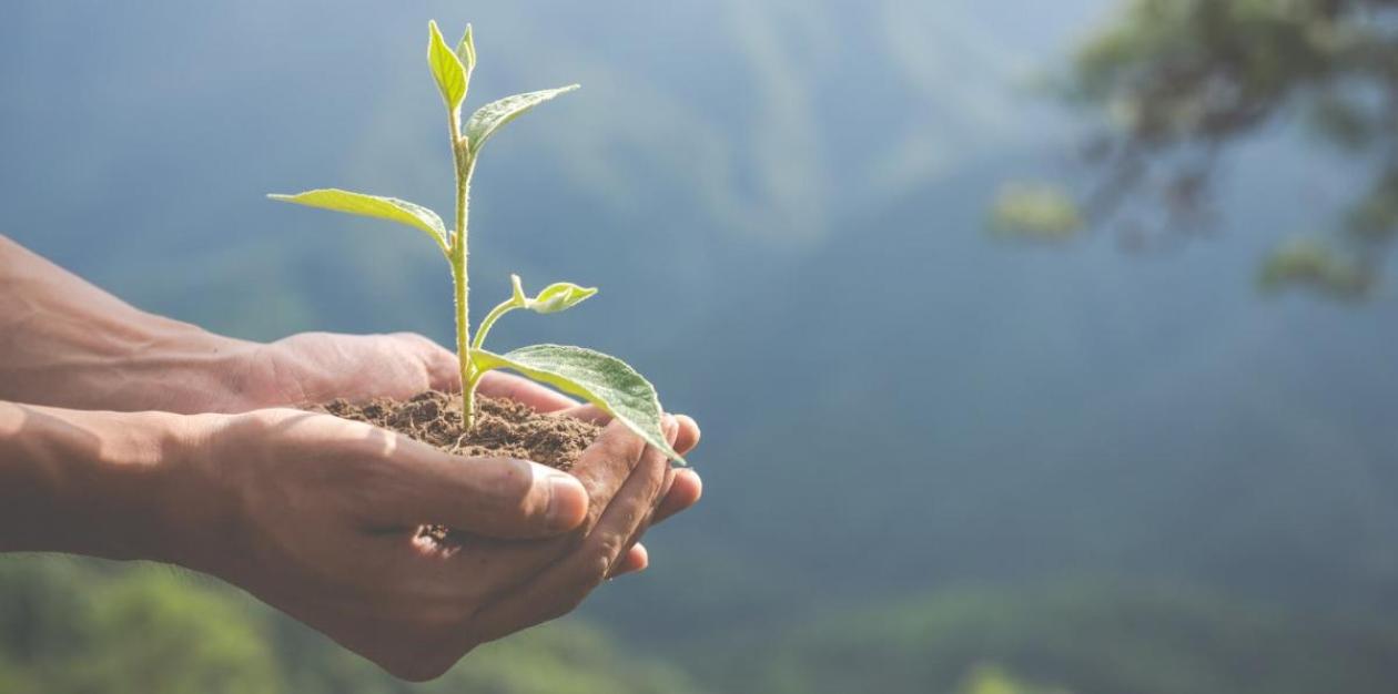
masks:
<instances>
[{"instance_id":1,"label":"farther forearm, the upper of two, reaching from the left edge","mask_svg":"<svg viewBox=\"0 0 1398 694\"><path fill-rule=\"evenodd\" d=\"M0 399L180 412L252 345L141 311L0 236Z\"/></svg>"}]
</instances>

